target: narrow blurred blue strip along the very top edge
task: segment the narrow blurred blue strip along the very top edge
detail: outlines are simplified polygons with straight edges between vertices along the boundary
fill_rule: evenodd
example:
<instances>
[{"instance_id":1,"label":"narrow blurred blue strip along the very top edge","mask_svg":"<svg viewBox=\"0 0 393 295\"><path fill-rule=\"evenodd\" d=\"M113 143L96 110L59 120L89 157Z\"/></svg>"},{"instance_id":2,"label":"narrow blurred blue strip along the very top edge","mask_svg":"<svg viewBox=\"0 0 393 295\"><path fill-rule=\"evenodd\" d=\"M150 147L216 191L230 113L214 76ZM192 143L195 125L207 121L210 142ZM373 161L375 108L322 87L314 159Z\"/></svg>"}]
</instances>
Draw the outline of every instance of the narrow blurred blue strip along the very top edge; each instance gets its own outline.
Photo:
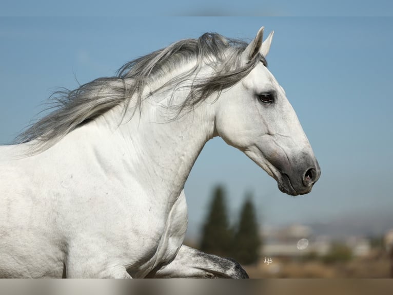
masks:
<instances>
[{"instance_id":1,"label":"narrow blurred blue strip along the very top edge","mask_svg":"<svg viewBox=\"0 0 393 295\"><path fill-rule=\"evenodd\" d=\"M2 0L0 16L391 16L389 0Z\"/></svg>"}]
</instances>

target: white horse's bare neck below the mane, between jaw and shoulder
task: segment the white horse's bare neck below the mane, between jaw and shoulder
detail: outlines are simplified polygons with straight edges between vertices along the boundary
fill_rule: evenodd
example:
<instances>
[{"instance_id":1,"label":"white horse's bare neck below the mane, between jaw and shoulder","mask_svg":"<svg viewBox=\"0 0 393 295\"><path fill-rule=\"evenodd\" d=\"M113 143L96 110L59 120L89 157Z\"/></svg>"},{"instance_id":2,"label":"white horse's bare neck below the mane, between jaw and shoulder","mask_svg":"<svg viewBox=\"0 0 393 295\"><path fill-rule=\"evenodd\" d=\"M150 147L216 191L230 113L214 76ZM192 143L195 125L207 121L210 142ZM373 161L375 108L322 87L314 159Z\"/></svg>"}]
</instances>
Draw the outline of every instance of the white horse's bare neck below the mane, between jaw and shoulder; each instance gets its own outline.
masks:
<instances>
[{"instance_id":1,"label":"white horse's bare neck below the mane, between jaw and shoulder","mask_svg":"<svg viewBox=\"0 0 393 295\"><path fill-rule=\"evenodd\" d=\"M181 103L187 94L179 91L172 102ZM146 189L177 197L203 146L214 135L215 112L214 104L202 103L191 112L184 110L177 119L168 119L174 115L165 107L170 99L170 93L153 95L143 102L141 113L136 110L130 120L126 116L120 126L121 109L103 119L113 122L116 143L112 140L111 146L117 146L117 156L132 177Z\"/></svg>"}]
</instances>

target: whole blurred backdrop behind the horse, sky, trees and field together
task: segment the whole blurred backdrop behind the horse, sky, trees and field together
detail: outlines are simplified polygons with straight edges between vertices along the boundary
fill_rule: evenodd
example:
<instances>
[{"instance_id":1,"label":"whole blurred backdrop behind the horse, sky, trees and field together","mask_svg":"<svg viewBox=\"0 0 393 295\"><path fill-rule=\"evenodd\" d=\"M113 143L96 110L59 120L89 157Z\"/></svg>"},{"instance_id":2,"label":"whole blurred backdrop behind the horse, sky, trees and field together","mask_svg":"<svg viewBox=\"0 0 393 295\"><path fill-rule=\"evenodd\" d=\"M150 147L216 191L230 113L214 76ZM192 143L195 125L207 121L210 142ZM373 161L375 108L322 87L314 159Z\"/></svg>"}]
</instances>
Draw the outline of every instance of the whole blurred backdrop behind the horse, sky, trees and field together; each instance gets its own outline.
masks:
<instances>
[{"instance_id":1,"label":"whole blurred backdrop behind the horse, sky, trees and field together","mask_svg":"<svg viewBox=\"0 0 393 295\"><path fill-rule=\"evenodd\" d=\"M186 243L236 257L256 278L388 278L388 17L2 17L0 144L43 115L56 87L113 76L127 61L207 31L250 41L261 26L266 35L275 31L269 69L297 112L321 178L310 194L287 196L242 152L210 140L185 186Z\"/></svg>"}]
</instances>

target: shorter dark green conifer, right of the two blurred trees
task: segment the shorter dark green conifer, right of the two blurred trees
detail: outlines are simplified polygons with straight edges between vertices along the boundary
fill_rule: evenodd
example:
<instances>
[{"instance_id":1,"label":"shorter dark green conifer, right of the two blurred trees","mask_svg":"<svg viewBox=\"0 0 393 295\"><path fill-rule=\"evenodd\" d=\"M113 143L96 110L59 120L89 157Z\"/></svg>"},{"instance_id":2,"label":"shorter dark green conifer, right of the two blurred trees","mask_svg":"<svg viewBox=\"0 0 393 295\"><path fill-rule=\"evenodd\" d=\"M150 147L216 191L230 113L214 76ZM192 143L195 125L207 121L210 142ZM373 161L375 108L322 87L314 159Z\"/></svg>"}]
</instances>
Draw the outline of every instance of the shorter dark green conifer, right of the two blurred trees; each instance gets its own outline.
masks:
<instances>
[{"instance_id":1,"label":"shorter dark green conifer, right of the two blurred trees","mask_svg":"<svg viewBox=\"0 0 393 295\"><path fill-rule=\"evenodd\" d=\"M262 239L252 196L248 194L240 212L237 230L233 236L232 256L241 264L257 263Z\"/></svg>"}]
</instances>

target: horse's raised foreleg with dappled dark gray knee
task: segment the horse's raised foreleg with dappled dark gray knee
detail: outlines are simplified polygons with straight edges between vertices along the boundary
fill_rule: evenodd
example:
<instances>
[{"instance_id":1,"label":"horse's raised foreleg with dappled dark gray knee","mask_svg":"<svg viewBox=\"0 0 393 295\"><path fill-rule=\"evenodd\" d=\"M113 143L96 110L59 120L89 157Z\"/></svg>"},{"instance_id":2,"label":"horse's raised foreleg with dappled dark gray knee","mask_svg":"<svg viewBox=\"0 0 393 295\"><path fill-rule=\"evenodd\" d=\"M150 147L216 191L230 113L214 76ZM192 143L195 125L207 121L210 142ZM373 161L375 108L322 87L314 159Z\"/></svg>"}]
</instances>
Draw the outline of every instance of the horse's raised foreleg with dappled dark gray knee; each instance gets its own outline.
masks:
<instances>
[{"instance_id":1,"label":"horse's raised foreleg with dappled dark gray knee","mask_svg":"<svg viewBox=\"0 0 393 295\"><path fill-rule=\"evenodd\" d=\"M206 254L182 245L174 260L153 270L150 278L248 279L246 271L232 259Z\"/></svg>"}]
</instances>

